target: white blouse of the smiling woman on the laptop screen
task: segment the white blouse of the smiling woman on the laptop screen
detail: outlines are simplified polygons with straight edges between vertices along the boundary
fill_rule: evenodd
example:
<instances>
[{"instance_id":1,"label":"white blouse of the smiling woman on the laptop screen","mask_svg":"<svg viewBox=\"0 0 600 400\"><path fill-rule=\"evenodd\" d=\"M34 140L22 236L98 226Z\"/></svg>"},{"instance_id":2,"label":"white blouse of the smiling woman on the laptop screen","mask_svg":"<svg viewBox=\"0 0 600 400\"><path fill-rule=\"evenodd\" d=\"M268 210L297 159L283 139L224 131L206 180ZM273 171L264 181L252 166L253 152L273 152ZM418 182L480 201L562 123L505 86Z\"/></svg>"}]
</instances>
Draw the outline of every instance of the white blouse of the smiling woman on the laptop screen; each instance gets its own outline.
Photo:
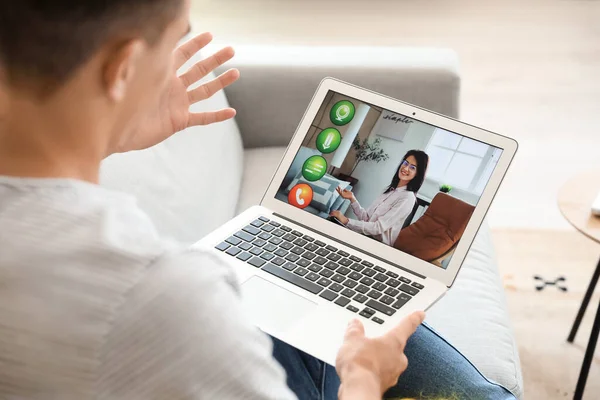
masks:
<instances>
[{"instance_id":1,"label":"white blouse of the smiling woman on the laptop screen","mask_svg":"<svg viewBox=\"0 0 600 400\"><path fill-rule=\"evenodd\" d=\"M351 206L358 221L349 219L346 227L393 246L416 200L414 192L401 187L382 194L366 210L355 201Z\"/></svg>"}]
</instances>

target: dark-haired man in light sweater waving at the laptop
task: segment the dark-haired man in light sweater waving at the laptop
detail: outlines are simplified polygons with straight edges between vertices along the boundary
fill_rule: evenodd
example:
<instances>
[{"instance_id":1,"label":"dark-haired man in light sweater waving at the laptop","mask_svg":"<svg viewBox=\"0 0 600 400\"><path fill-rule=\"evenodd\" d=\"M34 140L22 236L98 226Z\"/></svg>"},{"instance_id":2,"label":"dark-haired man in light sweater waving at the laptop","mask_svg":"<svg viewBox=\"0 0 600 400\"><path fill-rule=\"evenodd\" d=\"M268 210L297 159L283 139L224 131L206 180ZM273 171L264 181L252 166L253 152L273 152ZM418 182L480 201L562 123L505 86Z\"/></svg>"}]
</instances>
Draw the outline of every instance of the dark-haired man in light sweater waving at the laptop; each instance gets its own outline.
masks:
<instances>
[{"instance_id":1,"label":"dark-haired man in light sweater waving at the laptop","mask_svg":"<svg viewBox=\"0 0 600 400\"><path fill-rule=\"evenodd\" d=\"M352 322L336 373L253 327L227 265L98 186L108 155L235 115L189 111L239 77L189 89L231 48L177 76L211 41L175 49L189 3L0 3L0 398L378 399L410 351L404 394L509 398L429 328L411 337L423 313L375 339Z\"/></svg>"}]
</instances>

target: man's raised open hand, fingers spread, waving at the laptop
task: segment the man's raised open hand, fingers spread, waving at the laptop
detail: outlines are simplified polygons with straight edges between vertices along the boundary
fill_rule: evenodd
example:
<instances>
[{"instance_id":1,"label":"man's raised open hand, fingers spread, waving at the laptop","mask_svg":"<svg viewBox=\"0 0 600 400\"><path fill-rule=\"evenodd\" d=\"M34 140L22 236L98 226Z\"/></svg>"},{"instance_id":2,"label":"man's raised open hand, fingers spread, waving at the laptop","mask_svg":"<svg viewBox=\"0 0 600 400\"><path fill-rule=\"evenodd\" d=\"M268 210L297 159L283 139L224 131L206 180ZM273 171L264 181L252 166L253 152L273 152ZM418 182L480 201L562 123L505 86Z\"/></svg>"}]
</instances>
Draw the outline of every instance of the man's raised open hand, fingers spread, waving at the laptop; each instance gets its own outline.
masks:
<instances>
[{"instance_id":1,"label":"man's raised open hand, fingers spread, waving at the laptop","mask_svg":"<svg viewBox=\"0 0 600 400\"><path fill-rule=\"evenodd\" d=\"M233 108L201 113L190 112L191 105L212 97L238 80L239 71L230 69L217 78L190 90L191 86L231 60L235 54L233 48L223 48L193 65L183 74L177 75L177 70L211 41L210 33L202 33L175 50L175 72L158 101L158 109L148 110L148 116L142 124L135 127L135 131L124 135L123 142L112 149L111 153L142 150L186 128L222 122L235 116Z\"/></svg>"}]
</instances>

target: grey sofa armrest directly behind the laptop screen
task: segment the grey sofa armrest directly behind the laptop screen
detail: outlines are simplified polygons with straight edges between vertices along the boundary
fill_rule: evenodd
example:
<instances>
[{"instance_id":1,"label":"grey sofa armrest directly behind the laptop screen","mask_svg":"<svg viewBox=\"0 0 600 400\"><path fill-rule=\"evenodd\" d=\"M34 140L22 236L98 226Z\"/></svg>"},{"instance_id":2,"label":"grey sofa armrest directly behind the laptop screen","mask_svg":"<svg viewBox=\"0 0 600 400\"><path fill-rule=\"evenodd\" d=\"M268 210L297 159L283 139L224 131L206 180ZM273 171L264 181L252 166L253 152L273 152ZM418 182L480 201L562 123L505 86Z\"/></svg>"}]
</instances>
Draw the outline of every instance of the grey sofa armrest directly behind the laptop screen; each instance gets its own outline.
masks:
<instances>
[{"instance_id":1,"label":"grey sofa armrest directly behind the laptop screen","mask_svg":"<svg viewBox=\"0 0 600 400\"><path fill-rule=\"evenodd\" d=\"M223 68L241 79L226 89L246 148L287 146L327 76L458 117L458 57L448 49L236 46ZM221 69L223 71L224 69ZM221 72L220 71L220 72Z\"/></svg>"}]
</instances>

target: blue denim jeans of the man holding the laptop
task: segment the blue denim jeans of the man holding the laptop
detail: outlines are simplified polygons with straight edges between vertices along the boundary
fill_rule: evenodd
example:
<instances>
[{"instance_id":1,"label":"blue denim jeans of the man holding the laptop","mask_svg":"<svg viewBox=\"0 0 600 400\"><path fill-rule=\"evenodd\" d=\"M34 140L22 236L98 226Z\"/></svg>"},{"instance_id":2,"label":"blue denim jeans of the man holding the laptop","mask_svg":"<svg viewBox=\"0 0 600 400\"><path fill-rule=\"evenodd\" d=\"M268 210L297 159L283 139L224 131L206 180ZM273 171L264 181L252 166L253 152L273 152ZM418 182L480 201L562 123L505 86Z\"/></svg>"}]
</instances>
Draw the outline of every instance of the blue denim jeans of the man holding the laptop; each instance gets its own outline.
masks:
<instances>
[{"instance_id":1,"label":"blue denim jeans of the man holding the laptop","mask_svg":"<svg viewBox=\"0 0 600 400\"><path fill-rule=\"evenodd\" d=\"M287 373L298 399L337 399L335 368L273 338L273 356ZM408 340L408 369L385 398L511 399L502 386L487 380L458 350L430 327L421 325Z\"/></svg>"}]
</instances>

